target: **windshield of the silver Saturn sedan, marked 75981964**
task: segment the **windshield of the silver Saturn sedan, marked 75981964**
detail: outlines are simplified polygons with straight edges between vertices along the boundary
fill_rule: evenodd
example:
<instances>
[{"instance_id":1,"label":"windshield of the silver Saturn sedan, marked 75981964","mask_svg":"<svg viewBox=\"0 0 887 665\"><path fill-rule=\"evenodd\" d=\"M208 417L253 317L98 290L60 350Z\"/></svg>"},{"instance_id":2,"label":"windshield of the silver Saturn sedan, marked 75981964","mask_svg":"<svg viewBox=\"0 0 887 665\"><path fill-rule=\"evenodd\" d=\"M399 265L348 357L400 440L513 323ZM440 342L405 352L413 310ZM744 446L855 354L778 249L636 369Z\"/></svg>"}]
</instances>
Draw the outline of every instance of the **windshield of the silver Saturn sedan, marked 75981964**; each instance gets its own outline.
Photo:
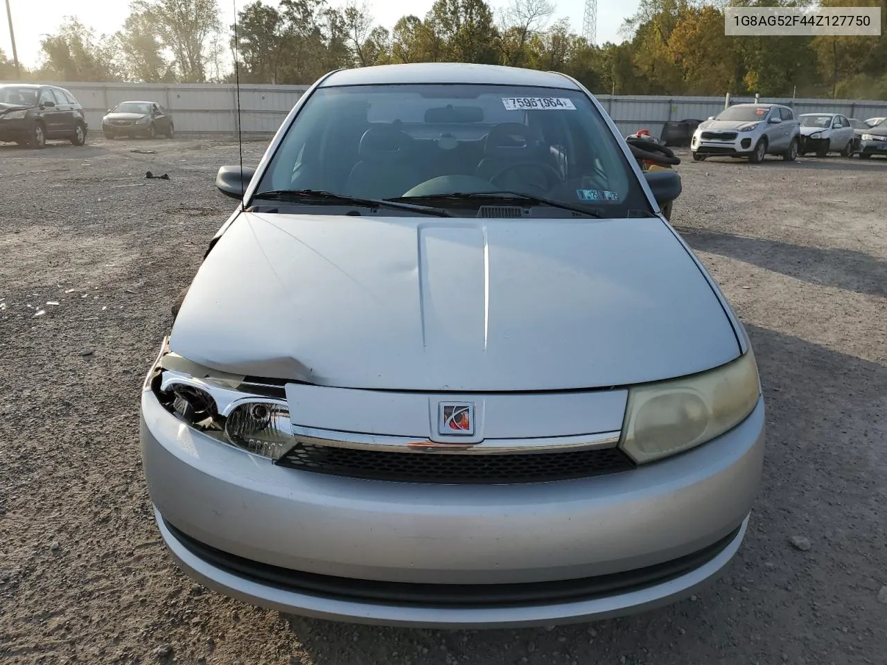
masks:
<instances>
[{"instance_id":1,"label":"windshield of the silver Saturn sedan, marked 75981964","mask_svg":"<svg viewBox=\"0 0 887 665\"><path fill-rule=\"evenodd\" d=\"M630 162L591 100L578 90L552 88L319 88L287 130L256 192L280 190L364 199L517 192L601 216L650 212ZM433 205L479 207L484 201Z\"/></svg>"}]
</instances>

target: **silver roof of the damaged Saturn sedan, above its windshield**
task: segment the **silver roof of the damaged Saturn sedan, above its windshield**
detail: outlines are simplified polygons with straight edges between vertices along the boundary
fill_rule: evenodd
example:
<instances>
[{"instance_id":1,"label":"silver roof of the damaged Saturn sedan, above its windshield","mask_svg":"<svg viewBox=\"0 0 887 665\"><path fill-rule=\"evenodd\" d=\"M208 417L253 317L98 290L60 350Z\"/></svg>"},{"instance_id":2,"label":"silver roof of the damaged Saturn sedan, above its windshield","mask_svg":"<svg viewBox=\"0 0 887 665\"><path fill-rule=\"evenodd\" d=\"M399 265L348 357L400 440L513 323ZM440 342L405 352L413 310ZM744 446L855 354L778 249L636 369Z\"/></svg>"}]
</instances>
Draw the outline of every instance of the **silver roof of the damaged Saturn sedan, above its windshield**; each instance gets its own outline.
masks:
<instances>
[{"instance_id":1,"label":"silver roof of the damaged Saturn sedan, above its windshield","mask_svg":"<svg viewBox=\"0 0 887 665\"><path fill-rule=\"evenodd\" d=\"M490 85L526 85L579 90L577 84L563 74L498 65L473 65L462 62L423 62L406 65L377 65L341 69L327 76L320 83L320 86L386 85L396 83L486 83Z\"/></svg>"}]
</instances>

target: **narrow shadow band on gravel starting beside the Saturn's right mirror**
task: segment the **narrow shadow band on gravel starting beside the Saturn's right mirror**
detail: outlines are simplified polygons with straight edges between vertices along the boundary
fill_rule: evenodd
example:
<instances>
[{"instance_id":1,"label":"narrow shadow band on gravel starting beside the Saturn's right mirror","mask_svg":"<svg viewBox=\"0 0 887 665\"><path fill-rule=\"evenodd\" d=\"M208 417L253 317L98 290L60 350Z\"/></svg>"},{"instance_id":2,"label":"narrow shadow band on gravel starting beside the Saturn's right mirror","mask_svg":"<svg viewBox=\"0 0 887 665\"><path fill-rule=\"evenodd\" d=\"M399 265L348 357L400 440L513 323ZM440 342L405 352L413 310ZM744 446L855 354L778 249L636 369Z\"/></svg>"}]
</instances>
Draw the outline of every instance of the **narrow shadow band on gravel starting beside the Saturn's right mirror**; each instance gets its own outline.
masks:
<instances>
[{"instance_id":1,"label":"narrow shadow band on gravel starting beside the Saturn's right mirror","mask_svg":"<svg viewBox=\"0 0 887 665\"><path fill-rule=\"evenodd\" d=\"M675 229L695 251L752 263L810 284L887 297L887 262L863 252L789 245L677 225Z\"/></svg>"}]
</instances>

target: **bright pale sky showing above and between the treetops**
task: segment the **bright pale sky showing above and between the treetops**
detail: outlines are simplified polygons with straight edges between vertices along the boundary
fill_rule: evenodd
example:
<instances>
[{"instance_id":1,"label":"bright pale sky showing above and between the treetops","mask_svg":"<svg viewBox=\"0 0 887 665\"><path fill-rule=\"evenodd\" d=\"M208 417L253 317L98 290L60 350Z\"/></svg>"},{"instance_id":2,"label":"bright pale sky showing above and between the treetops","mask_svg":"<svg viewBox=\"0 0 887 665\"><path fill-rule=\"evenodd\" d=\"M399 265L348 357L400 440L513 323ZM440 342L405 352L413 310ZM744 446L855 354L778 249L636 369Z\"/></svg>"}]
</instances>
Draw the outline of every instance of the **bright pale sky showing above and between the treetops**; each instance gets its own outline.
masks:
<instances>
[{"instance_id":1,"label":"bright pale sky showing above and between the treetops","mask_svg":"<svg viewBox=\"0 0 887 665\"><path fill-rule=\"evenodd\" d=\"M585 11L585 0L553 0L557 9L554 19L569 18L576 32L582 30L582 14ZM223 23L232 24L234 6L242 9L250 0L220 0ZM506 0L488 0L493 8L506 4ZM34 11L33 0L9 0L12 9L12 25L15 27L15 43L19 52L20 62L24 66L34 67L40 61L40 40L43 35L55 32L66 16L76 16L82 24L92 27L97 35L113 34L129 15L129 3L125 0L41 0L40 11ZM267 4L276 4L269 2ZM330 4L341 5L338 0ZM358 3L360 4L360 3ZM404 13L412 13L424 17L434 4L434 0L412 0L408 4L409 12L404 12L404 4L395 0L370 0L368 3L376 24L393 27ZM632 15L638 8L638 0L598 0L598 43L619 42L619 28L625 18ZM50 18L51 17L51 18ZM0 3L0 49L12 59L12 46L9 38L9 26L6 13Z\"/></svg>"}]
</instances>

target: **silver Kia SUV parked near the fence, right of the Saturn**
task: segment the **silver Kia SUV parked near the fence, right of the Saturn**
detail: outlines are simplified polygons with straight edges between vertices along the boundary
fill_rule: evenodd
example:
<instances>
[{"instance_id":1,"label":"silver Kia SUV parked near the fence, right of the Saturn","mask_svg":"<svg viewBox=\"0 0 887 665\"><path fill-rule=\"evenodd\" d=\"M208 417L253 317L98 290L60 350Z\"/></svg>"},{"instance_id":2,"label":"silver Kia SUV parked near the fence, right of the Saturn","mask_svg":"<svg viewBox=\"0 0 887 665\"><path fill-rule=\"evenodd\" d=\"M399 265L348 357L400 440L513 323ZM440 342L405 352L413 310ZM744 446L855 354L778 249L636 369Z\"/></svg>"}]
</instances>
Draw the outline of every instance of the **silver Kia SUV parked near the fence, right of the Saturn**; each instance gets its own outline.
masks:
<instances>
[{"instance_id":1,"label":"silver Kia SUV parked near the fence, right of the Saturn","mask_svg":"<svg viewBox=\"0 0 887 665\"><path fill-rule=\"evenodd\" d=\"M800 125L788 106L736 104L696 128L690 151L706 157L747 157L757 164L768 154L793 161L800 146Z\"/></svg>"}]
</instances>

